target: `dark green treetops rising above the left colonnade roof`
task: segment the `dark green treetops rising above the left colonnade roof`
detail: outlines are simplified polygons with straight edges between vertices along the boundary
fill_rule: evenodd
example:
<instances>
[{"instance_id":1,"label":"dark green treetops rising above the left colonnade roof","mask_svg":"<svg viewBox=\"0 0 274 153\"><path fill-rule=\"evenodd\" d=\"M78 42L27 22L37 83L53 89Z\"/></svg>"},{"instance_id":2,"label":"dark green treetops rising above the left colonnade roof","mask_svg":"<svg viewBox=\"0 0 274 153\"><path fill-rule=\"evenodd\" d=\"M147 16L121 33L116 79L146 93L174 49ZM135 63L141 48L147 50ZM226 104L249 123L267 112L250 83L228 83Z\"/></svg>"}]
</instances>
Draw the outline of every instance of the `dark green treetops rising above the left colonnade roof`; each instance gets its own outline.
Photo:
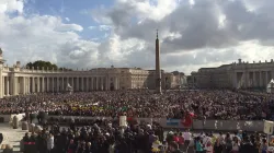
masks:
<instances>
[{"instance_id":1,"label":"dark green treetops rising above the left colonnade roof","mask_svg":"<svg viewBox=\"0 0 274 153\"><path fill-rule=\"evenodd\" d=\"M55 63L52 63L49 61L43 61L43 60L37 60L37 61L34 61L34 62L28 62L26 63L26 67L28 69L32 69L34 67L35 70L42 70L42 68L44 68L45 70L48 68L48 70L57 70L58 67L55 64Z\"/></svg>"}]
</instances>

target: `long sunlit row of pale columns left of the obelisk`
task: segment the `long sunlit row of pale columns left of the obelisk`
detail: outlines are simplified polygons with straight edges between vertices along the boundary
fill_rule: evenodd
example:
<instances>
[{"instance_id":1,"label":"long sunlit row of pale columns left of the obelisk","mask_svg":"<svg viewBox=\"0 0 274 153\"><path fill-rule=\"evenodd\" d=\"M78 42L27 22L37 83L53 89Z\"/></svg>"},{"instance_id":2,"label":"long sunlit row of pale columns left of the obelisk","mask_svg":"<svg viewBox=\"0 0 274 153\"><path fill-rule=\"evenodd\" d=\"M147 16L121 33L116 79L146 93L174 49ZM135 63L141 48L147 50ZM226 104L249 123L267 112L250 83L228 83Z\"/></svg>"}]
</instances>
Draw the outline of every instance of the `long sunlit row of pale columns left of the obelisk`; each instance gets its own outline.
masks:
<instances>
[{"instance_id":1,"label":"long sunlit row of pale columns left of the obelisk","mask_svg":"<svg viewBox=\"0 0 274 153\"><path fill-rule=\"evenodd\" d=\"M119 90L117 76L2 76L2 95L43 92L66 92L70 84L75 92Z\"/></svg>"}]
</instances>

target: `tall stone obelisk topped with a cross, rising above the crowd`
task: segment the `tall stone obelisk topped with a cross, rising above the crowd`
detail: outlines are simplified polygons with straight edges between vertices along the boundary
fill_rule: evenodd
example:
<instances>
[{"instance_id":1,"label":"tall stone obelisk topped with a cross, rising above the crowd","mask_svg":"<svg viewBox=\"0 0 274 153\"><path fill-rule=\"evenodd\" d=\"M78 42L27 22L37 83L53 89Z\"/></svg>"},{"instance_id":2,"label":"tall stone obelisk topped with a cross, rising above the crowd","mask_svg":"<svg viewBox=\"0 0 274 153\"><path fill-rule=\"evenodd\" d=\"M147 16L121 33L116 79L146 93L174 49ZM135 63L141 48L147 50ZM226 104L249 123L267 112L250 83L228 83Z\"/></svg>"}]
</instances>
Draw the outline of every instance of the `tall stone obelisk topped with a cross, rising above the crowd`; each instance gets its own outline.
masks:
<instances>
[{"instance_id":1,"label":"tall stone obelisk topped with a cross, rising above the crowd","mask_svg":"<svg viewBox=\"0 0 274 153\"><path fill-rule=\"evenodd\" d=\"M162 85L161 85L161 67L160 67L160 44L158 39L158 30L157 30L157 37L156 37L156 93L162 93Z\"/></svg>"}]
</instances>

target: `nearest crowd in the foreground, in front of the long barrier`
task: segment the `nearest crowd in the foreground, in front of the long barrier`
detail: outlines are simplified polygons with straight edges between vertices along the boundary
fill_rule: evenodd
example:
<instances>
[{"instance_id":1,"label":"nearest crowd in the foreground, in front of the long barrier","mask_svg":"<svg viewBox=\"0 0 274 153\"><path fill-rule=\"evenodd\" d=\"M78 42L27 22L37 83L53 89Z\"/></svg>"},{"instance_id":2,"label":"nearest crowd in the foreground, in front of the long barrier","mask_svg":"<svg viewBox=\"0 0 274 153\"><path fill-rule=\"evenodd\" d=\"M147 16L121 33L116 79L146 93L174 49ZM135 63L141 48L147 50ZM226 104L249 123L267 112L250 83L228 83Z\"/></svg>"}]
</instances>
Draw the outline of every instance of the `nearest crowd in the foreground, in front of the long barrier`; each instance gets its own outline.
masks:
<instances>
[{"instance_id":1,"label":"nearest crowd in the foreground, in front of the long barrier","mask_svg":"<svg viewBox=\"0 0 274 153\"><path fill-rule=\"evenodd\" d=\"M233 134L164 132L157 123L128 125L94 120L87 126L58 123L42 131L26 133L22 140L24 153L266 153L266 137L238 131Z\"/></svg>"}]
</instances>

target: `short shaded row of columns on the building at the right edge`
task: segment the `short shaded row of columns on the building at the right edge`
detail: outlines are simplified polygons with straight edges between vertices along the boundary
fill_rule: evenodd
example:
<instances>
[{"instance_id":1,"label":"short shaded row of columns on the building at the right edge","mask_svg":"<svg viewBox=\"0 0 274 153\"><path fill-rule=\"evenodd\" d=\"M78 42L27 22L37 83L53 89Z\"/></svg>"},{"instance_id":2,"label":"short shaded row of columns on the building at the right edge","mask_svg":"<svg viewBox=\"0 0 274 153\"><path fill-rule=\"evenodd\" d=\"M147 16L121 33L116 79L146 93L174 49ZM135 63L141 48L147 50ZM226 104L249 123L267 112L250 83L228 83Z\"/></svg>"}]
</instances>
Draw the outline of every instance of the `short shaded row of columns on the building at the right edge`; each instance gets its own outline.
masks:
<instances>
[{"instance_id":1,"label":"short shaded row of columns on the building at the right edge","mask_svg":"<svg viewBox=\"0 0 274 153\"><path fill-rule=\"evenodd\" d=\"M236 72L236 87L266 87L274 79L274 71Z\"/></svg>"}]
</instances>

